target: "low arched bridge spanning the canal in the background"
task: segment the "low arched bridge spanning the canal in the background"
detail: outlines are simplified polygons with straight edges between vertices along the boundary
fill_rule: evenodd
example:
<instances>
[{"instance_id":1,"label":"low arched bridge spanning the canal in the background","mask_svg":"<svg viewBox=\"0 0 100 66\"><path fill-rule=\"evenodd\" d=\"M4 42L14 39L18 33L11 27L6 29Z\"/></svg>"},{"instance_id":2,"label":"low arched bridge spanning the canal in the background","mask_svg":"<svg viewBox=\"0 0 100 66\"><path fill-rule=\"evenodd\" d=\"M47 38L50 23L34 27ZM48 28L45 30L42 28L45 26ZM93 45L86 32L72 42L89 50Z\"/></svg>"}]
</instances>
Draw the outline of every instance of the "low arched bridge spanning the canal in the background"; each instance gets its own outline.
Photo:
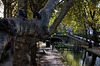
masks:
<instances>
[{"instance_id":1,"label":"low arched bridge spanning the canal in the background","mask_svg":"<svg viewBox=\"0 0 100 66\"><path fill-rule=\"evenodd\" d=\"M53 37L49 37L47 40L51 43L51 45L54 42L64 42L64 43L70 43L70 44L82 44L82 45L88 45L87 42L80 40L74 36L71 35L54 35Z\"/></svg>"}]
</instances>

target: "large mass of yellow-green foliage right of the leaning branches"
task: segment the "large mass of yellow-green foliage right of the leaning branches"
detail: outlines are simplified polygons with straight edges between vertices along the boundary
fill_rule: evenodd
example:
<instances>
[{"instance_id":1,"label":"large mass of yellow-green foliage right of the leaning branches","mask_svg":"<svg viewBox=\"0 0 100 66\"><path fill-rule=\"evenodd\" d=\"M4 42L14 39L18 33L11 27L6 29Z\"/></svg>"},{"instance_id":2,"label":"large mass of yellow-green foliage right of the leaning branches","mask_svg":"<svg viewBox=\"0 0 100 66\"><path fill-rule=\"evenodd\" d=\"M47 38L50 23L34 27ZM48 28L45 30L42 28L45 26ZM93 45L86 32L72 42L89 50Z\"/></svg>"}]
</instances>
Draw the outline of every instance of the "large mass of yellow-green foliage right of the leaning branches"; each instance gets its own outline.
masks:
<instances>
[{"instance_id":1,"label":"large mass of yellow-green foliage right of the leaning branches","mask_svg":"<svg viewBox=\"0 0 100 66\"><path fill-rule=\"evenodd\" d=\"M70 8L62 23L73 29L74 33L84 34L84 29L99 29L100 25L100 7L97 7L99 0L74 0L75 5ZM95 11L95 15L93 15ZM91 14L94 17L92 19ZM60 27L61 28L61 27ZM83 32L83 33L82 33Z\"/></svg>"}]
</instances>

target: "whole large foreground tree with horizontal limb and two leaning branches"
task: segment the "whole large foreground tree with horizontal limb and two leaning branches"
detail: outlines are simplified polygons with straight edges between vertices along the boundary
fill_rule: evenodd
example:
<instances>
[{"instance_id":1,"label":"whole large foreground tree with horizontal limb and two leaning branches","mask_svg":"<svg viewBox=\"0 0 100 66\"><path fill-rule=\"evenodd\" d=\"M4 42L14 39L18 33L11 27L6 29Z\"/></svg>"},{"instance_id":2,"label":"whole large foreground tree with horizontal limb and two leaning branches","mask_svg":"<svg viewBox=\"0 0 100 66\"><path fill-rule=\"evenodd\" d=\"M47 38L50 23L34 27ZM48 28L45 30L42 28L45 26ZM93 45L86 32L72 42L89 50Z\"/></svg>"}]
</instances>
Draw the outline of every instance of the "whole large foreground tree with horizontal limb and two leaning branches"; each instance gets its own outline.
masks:
<instances>
[{"instance_id":1,"label":"whole large foreground tree with horizontal limb and two leaning branches","mask_svg":"<svg viewBox=\"0 0 100 66\"><path fill-rule=\"evenodd\" d=\"M19 1L20 9L24 10L24 0ZM0 20L0 39L2 39L0 40L0 44L7 44L11 39L16 37L13 60L14 66L25 66L28 59L29 63L36 66L36 42L53 34L68 10L73 6L73 0L64 1L63 8L51 25L49 32L49 20L58 3L59 0L48 0L46 5L39 11L42 17L41 20L38 20L37 17L26 20L17 17ZM27 55L30 56L31 59L27 59Z\"/></svg>"}]
</instances>

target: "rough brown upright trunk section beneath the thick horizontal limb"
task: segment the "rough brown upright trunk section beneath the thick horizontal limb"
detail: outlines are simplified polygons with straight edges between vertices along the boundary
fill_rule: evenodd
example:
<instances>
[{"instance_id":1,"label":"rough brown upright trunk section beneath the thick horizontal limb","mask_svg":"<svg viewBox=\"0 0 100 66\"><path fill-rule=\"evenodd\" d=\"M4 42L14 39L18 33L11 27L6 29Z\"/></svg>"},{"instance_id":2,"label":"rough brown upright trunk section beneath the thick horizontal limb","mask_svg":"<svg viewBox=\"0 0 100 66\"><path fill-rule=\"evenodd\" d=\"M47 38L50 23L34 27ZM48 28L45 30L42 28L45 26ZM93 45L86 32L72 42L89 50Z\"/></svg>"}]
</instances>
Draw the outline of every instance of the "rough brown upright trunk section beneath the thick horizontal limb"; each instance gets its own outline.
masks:
<instances>
[{"instance_id":1,"label":"rough brown upright trunk section beneath the thick horizontal limb","mask_svg":"<svg viewBox=\"0 0 100 66\"><path fill-rule=\"evenodd\" d=\"M27 66L30 64L30 58L27 54L30 52L31 40L32 37L17 37L13 66Z\"/></svg>"}]
</instances>

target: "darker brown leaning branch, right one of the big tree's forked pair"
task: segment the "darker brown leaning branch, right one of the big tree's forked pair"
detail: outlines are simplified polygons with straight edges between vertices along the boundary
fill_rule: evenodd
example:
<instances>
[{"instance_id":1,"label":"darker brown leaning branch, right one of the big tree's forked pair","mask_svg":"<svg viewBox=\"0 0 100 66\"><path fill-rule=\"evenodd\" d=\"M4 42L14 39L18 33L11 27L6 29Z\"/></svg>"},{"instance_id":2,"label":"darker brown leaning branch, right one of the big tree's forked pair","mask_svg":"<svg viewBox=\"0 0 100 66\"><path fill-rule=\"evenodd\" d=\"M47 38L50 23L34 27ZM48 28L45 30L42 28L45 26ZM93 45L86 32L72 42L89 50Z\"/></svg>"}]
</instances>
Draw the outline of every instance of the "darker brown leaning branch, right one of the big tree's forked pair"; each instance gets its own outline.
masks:
<instances>
[{"instance_id":1,"label":"darker brown leaning branch, right one of the big tree's forked pair","mask_svg":"<svg viewBox=\"0 0 100 66\"><path fill-rule=\"evenodd\" d=\"M54 23L50 26L50 34L53 34L57 26L61 23L62 19L65 17L66 13L69 11L69 9L74 5L73 0L65 0L63 8L58 15L58 17L54 20Z\"/></svg>"}]
</instances>

